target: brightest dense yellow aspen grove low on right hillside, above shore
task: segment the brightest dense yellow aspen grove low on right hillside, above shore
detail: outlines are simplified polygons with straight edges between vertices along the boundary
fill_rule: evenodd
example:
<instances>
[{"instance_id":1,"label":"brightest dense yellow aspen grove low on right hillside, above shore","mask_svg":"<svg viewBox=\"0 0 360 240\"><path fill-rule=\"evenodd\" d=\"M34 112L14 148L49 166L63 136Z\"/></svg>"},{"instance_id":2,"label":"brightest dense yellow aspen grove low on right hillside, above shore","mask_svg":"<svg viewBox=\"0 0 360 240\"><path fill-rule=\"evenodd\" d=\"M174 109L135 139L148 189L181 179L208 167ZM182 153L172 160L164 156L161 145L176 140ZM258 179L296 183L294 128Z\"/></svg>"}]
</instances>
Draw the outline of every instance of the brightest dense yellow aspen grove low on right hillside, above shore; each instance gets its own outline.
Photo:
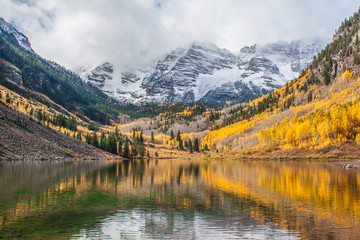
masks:
<instances>
[{"instance_id":1,"label":"brightest dense yellow aspen grove low on right hillside, above shore","mask_svg":"<svg viewBox=\"0 0 360 240\"><path fill-rule=\"evenodd\" d=\"M317 147L360 139L360 100L316 110L309 117L294 117L264 128L261 143L283 148Z\"/></svg>"}]
</instances>

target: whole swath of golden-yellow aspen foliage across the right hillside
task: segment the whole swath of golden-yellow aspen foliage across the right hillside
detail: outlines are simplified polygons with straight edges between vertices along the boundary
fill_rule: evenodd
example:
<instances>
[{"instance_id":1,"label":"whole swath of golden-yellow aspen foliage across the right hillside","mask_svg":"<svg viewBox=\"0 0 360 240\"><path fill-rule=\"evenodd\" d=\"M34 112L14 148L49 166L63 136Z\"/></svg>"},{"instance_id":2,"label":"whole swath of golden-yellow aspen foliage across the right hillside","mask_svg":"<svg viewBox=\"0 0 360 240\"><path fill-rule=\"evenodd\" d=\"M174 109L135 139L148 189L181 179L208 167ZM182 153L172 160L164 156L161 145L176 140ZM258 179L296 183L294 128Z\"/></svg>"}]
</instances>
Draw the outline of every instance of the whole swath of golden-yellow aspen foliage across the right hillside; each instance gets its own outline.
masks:
<instances>
[{"instance_id":1,"label":"whole swath of golden-yellow aspen foliage across the right hillside","mask_svg":"<svg viewBox=\"0 0 360 240\"><path fill-rule=\"evenodd\" d=\"M236 149L264 145L281 148L319 148L331 143L354 141L360 143L360 78L346 70L330 86L309 85L311 71L276 90L276 107L249 120L211 131L202 139L210 149ZM312 92L312 100L308 94ZM290 100L296 103L283 108ZM264 97L249 103L255 108ZM346 104L344 104L346 103ZM258 142L250 139L254 134ZM259 145L261 144L261 145Z\"/></svg>"}]
</instances>

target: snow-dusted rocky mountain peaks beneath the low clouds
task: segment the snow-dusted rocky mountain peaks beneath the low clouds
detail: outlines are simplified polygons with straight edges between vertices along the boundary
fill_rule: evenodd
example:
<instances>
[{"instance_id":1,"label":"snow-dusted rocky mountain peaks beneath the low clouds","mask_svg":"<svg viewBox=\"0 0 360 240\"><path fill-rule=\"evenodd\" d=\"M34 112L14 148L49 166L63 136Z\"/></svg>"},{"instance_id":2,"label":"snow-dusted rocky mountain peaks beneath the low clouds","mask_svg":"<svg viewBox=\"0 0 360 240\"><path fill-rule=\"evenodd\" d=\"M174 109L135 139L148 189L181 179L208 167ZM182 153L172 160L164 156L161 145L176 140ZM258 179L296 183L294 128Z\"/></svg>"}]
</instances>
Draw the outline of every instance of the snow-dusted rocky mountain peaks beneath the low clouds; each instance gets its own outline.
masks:
<instances>
[{"instance_id":1,"label":"snow-dusted rocky mountain peaks beneath the low clouds","mask_svg":"<svg viewBox=\"0 0 360 240\"><path fill-rule=\"evenodd\" d=\"M277 42L244 47L234 54L193 43L164 55L146 70L124 71L118 78L110 63L79 73L123 103L219 106L248 101L284 85L306 69L322 47L319 41Z\"/></svg>"}]
</instances>

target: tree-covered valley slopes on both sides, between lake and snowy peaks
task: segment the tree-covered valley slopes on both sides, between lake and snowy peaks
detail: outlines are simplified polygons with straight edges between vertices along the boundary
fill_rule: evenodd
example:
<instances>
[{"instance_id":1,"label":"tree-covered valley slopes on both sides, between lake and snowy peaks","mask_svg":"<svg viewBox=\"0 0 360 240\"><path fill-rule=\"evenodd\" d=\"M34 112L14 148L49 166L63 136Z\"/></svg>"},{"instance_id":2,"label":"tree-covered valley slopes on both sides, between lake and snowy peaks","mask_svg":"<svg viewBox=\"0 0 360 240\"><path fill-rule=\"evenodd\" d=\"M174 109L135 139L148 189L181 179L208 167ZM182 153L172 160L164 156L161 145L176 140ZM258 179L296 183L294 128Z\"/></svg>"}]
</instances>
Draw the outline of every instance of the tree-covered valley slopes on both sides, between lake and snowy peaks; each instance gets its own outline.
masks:
<instances>
[{"instance_id":1,"label":"tree-covered valley slopes on both sides, between lake and snowy peaks","mask_svg":"<svg viewBox=\"0 0 360 240\"><path fill-rule=\"evenodd\" d=\"M216 109L121 105L2 32L0 102L20 114L11 120L20 128L26 117L123 157L351 158L360 154L359 27L360 10L300 77ZM5 111L0 117L9 124ZM0 151L9 152L3 145Z\"/></svg>"}]
</instances>

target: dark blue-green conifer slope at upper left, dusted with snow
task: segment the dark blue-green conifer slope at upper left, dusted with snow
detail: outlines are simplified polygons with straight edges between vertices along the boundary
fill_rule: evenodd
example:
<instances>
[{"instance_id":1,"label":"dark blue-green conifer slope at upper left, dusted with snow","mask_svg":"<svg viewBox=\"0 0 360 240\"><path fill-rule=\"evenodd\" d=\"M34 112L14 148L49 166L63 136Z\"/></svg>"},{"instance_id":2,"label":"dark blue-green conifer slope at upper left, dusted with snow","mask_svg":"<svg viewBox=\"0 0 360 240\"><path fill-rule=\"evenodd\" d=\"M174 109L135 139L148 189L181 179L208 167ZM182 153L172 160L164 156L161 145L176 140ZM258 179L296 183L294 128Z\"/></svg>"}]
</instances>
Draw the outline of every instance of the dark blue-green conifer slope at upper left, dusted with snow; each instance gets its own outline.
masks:
<instances>
[{"instance_id":1,"label":"dark blue-green conifer slope at upper left, dusted with snow","mask_svg":"<svg viewBox=\"0 0 360 240\"><path fill-rule=\"evenodd\" d=\"M45 94L69 111L100 123L117 117L121 106L107 95L65 68L41 58L31 49L28 39L3 19L0 30L0 84L24 94L15 84L5 81L18 79L14 81L18 85Z\"/></svg>"}]
</instances>

